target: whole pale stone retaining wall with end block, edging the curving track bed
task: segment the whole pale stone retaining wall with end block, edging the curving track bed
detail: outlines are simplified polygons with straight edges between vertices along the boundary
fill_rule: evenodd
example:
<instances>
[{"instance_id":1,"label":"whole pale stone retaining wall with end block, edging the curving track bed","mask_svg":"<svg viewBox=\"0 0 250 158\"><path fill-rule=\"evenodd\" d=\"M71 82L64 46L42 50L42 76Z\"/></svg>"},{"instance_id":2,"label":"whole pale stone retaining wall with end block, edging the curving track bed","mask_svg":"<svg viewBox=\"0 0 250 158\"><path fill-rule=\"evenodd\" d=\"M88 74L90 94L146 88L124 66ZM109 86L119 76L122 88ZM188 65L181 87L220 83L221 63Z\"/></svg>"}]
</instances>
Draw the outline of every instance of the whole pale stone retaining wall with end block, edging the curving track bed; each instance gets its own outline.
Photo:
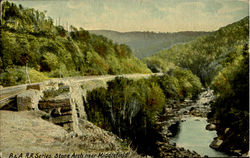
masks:
<instances>
[{"instance_id":1,"label":"whole pale stone retaining wall with end block, edging the curving track bed","mask_svg":"<svg viewBox=\"0 0 250 158\"><path fill-rule=\"evenodd\" d=\"M130 79L140 79L149 75L127 75ZM116 76L91 76L81 80L74 78L52 79L26 86L26 90L14 98L18 111L41 110L42 118L62 126L68 132L81 134L79 119L87 119L84 109L87 91L107 87L107 82ZM8 109L11 110L9 106ZM11 104L11 107L13 105Z\"/></svg>"}]
</instances>

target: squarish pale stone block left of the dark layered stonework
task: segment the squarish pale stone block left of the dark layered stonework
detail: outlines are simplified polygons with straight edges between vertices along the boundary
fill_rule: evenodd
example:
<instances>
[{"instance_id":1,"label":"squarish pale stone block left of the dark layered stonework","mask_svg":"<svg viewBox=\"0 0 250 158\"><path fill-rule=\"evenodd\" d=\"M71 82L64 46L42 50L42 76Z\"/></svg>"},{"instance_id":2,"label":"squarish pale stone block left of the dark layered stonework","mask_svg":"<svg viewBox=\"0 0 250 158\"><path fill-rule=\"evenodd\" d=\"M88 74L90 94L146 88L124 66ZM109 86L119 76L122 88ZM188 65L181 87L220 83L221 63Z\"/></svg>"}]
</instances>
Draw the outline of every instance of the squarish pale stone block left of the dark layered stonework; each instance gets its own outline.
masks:
<instances>
[{"instance_id":1,"label":"squarish pale stone block left of the dark layered stonework","mask_svg":"<svg viewBox=\"0 0 250 158\"><path fill-rule=\"evenodd\" d=\"M17 95L17 109L24 110L38 110L38 102L41 98L41 93L38 90L30 89Z\"/></svg>"}]
</instances>

